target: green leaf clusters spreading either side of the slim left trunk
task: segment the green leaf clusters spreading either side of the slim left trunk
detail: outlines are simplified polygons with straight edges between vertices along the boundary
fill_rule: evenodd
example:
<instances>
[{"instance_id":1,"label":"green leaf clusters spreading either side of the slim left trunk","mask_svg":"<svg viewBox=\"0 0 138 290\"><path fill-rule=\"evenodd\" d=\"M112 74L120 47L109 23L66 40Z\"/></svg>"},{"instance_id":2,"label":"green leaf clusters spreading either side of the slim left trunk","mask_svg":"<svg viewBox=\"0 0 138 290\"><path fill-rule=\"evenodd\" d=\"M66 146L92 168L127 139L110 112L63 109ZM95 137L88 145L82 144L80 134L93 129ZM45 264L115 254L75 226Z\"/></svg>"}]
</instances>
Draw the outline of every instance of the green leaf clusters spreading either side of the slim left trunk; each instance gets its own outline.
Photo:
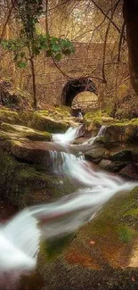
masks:
<instances>
[{"instance_id":1,"label":"green leaf clusters spreading either side of the slim left trunk","mask_svg":"<svg viewBox=\"0 0 138 290\"><path fill-rule=\"evenodd\" d=\"M29 60L28 39L26 37L3 40L1 46L5 50L12 52L13 61L16 62L19 68L26 68ZM69 39L36 34L35 39L31 41L32 55L37 56L42 51L46 52L47 57L53 56L59 62L62 55L75 53L75 48Z\"/></svg>"}]
</instances>

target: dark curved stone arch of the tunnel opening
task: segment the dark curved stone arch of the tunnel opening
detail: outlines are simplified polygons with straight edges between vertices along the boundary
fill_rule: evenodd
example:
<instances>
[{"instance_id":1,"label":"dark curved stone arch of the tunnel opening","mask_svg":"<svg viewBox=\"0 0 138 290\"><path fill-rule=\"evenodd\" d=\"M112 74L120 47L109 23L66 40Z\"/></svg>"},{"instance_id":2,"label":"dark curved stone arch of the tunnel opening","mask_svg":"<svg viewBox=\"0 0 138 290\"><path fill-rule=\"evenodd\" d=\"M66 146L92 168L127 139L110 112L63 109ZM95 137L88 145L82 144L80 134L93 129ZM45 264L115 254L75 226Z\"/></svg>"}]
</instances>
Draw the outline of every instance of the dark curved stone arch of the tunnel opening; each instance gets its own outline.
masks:
<instances>
[{"instance_id":1,"label":"dark curved stone arch of the tunnel opening","mask_svg":"<svg viewBox=\"0 0 138 290\"><path fill-rule=\"evenodd\" d=\"M62 104L71 107L75 96L81 92L89 91L96 94L96 86L90 78L71 79L62 90Z\"/></svg>"}]
</instances>

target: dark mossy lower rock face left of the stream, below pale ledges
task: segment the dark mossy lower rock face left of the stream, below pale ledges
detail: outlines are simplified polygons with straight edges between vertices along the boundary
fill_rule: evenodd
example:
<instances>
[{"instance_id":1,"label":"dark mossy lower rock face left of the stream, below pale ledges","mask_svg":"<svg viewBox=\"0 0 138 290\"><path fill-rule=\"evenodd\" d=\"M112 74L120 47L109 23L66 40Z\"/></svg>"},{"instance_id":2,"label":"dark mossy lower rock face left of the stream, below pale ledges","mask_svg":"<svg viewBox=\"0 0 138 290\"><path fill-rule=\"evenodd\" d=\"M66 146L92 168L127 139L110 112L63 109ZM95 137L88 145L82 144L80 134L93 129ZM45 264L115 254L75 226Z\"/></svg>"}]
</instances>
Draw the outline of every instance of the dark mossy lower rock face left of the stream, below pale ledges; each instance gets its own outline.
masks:
<instances>
[{"instance_id":1,"label":"dark mossy lower rock face left of the stream, below pale ledges","mask_svg":"<svg viewBox=\"0 0 138 290\"><path fill-rule=\"evenodd\" d=\"M0 172L1 199L19 208L55 200L75 189L68 178L53 176L35 164L19 162L2 148Z\"/></svg>"}]
</instances>

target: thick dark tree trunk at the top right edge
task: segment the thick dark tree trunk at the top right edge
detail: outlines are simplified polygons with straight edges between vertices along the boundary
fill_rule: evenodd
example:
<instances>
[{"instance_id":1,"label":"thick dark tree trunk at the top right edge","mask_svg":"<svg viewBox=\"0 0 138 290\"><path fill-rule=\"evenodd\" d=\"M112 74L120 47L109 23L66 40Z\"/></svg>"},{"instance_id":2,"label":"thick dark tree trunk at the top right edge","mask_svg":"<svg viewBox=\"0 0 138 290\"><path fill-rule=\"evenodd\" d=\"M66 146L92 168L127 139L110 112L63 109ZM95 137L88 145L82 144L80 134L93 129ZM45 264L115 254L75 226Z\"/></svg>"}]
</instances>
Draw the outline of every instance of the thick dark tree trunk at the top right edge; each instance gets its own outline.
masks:
<instances>
[{"instance_id":1,"label":"thick dark tree trunk at the top right edge","mask_svg":"<svg viewBox=\"0 0 138 290\"><path fill-rule=\"evenodd\" d=\"M138 0L124 0L123 12L126 21L130 79L138 95Z\"/></svg>"}]
</instances>

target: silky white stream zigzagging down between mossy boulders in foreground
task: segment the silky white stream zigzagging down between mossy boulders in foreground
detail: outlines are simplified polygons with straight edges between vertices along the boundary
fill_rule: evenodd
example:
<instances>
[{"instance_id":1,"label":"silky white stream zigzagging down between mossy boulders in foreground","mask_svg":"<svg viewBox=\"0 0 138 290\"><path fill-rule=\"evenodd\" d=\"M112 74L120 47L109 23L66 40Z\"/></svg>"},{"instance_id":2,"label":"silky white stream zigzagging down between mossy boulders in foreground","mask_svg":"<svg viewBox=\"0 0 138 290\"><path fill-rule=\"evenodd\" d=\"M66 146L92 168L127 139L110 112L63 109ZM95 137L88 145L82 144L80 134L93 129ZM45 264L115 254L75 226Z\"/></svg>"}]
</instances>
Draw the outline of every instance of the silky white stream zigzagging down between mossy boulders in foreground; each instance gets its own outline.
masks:
<instances>
[{"instance_id":1,"label":"silky white stream zigzagging down between mossy boulders in foreground","mask_svg":"<svg viewBox=\"0 0 138 290\"><path fill-rule=\"evenodd\" d=\"M62 138L65 141L64 135ZM69 140L73 140L73 137L68 138L68 142ZM93 214L111 196L118 192L130 191L136 185L108 173L93 170L84 157L57 152L51 152L51 156L57 173L60 171L66 174L85 188L66 195L57 202L32 206L1 226L1 271L34 269L42 239L52 239L75 231L92 219Z\"/></svg>"}]
</instances>

